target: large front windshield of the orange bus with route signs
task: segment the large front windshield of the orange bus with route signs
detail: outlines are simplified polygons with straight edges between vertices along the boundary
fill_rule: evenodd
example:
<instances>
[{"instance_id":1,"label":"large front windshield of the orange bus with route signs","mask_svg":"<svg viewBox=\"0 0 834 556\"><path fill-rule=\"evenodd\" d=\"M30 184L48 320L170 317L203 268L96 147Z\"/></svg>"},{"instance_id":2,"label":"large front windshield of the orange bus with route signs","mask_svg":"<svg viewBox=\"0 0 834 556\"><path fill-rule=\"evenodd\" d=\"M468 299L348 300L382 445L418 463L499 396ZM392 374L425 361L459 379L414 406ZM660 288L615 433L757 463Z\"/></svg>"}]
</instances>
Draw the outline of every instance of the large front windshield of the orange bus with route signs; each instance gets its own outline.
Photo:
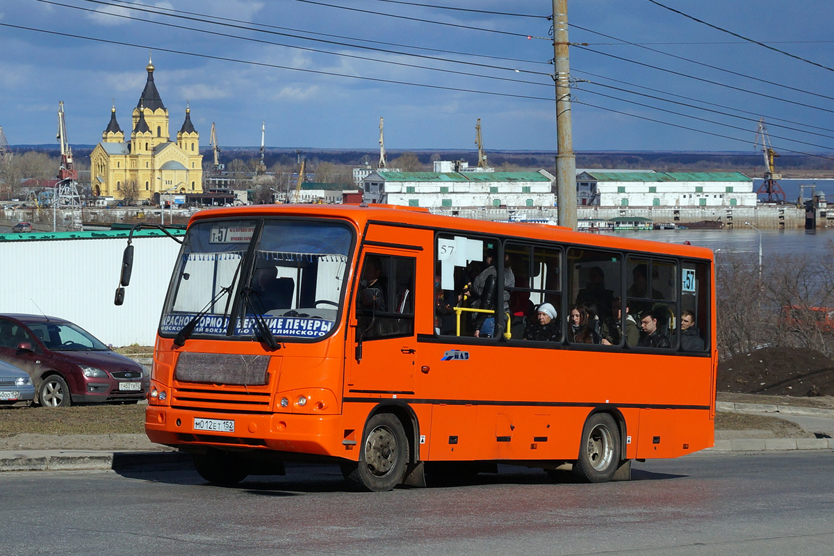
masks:
<instances>
[{"instance_id":1,"label":"large front windshield of the orange bus with route signs","mask_svg":"<svg viewBox=\"0 0 834 556\"><path fill-rule=\"evenodd\" d=\"M179 333L195 321L190 337L249 339L265 325L282 341L322 338L343 303L352 244L350 229L334 222L194 224L174 271L160 333Z\"/></svg>"}]
</instances>

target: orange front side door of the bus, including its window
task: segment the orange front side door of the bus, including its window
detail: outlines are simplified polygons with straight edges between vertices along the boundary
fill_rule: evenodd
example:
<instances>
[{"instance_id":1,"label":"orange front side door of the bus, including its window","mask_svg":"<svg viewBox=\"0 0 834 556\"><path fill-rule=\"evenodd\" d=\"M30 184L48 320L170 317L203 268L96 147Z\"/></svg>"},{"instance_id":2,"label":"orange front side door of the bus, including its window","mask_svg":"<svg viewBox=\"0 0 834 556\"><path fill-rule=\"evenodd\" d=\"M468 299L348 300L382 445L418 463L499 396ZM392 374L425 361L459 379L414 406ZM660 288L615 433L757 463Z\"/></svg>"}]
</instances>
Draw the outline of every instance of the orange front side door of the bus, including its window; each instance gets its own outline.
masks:
<instances>
[{"instance_id":1,"label":"orange front side door of the bus, including its window","mask_svg":"<svg viewBox=\"0 0 834 556\"><path fill-rule=\"evenodd\" d=\"M374 244L375 243L375 244ZM345 353L345 395L413 394L416 253L366 242Z\"/></svg>"}]
</instances>

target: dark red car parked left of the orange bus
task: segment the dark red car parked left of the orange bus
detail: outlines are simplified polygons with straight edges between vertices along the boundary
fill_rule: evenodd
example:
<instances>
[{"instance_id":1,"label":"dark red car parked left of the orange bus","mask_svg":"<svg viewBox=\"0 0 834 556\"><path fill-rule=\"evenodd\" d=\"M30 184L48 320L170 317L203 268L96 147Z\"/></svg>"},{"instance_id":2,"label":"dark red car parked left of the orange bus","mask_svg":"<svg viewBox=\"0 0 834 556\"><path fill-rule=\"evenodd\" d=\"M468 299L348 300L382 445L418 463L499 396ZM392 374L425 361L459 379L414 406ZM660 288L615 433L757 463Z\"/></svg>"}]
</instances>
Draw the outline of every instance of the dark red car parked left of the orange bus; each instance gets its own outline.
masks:
<instances>
[{"instance_id":1,"label":"dark red car parked left of the orange bus","mask_svg":"<svg viewBox=\"0 0 834 556\"><path fill-rule=\"evenodd\" d=\"M46 407L137 403L150 386L148 368L63 318L0 315L0 361L26 371Z\"/></svg>"}]
</instances>

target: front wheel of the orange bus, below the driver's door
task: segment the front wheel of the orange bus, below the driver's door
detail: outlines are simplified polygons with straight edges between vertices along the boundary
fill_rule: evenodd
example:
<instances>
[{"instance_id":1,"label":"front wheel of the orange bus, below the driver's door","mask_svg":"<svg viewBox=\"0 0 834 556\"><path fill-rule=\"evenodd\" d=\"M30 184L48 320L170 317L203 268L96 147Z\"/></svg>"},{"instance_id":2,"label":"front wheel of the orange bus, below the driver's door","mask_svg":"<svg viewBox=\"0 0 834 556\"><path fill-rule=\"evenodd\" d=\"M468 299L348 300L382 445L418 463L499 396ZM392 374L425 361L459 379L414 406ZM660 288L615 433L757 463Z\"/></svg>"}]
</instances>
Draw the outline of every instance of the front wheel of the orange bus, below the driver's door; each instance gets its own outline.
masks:
<instances>
[{"instance_id":1,"label":"front wheel of the orange bus, below the driver's door","mask_svg":"<svg viewBox=\"0 0 834 556\"><path fill-rule=\"evenodd\" d=\"M409 461L409 440L399 419L377 413L368 420L359 449L359 461L344 463L344 478L368 492L391 490L402 482Z\"/></svg>"}]
</instances>

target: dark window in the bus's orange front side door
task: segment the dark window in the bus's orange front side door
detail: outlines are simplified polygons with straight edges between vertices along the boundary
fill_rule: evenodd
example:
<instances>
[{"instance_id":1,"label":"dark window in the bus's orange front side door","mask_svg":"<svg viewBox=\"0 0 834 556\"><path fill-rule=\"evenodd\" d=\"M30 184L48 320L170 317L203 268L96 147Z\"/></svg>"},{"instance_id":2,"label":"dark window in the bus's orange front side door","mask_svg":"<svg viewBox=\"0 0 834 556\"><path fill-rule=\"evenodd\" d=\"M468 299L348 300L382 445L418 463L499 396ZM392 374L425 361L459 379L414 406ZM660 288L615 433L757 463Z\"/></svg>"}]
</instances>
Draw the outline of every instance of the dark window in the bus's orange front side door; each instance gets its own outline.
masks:
<instances>
[{"instance_id":1,"label":"dark window in the bus's orange front side door","mask_svg":"<svg viewBox=\"0 0 834 556\"><path fill-rule=\"evenodd\" d=\"M365 255L356 294L363 341L414 334L414 258Z\"/></svg>"}]
</instances>

